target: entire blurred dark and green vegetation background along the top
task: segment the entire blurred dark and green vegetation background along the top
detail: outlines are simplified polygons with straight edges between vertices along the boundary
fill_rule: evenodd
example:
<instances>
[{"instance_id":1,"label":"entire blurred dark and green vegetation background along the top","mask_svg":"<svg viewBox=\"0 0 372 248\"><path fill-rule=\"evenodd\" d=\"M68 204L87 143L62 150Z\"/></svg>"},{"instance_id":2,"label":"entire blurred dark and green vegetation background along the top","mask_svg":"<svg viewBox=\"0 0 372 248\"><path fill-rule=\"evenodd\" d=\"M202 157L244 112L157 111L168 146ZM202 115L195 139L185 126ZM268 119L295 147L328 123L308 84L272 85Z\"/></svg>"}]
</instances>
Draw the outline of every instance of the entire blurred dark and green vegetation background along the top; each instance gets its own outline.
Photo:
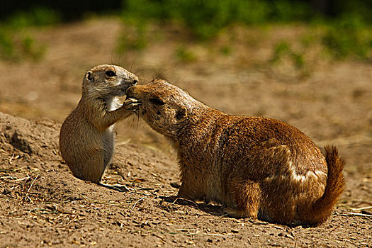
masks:
<instances>
[{"instance_id":1,"label":"entire blurred dark and green vegetation background along the top","mask_svg":"<svg viewBox=\"0 0 372 248\"><path fill-rule=\"evenodd\" d=\"M79 21L89 16L120 16L135 34L118 39L116 52L141 50L147 46L149 23L173 23L188 30L194 40L208 42L234 24L265 26L268 23L304 23L320 33L301 38L300 48L282 40L273 47L271 62L283 55L303 67L303 53L308 43L321 43L332 58L353 57L369 60L372 47L372 1L312 0L107 0L107 1L1 1L0 58L41 60L47 50L26 30L30 27L53 26ZM311 32L315 33L315 32ZM190 36L188 36L190 37ZM231 47L222 47L229 54ZM26 56L25 56L26 55ZM194 56L187 47L176 55L186 62Z\"/></svg>"}]
</instances>

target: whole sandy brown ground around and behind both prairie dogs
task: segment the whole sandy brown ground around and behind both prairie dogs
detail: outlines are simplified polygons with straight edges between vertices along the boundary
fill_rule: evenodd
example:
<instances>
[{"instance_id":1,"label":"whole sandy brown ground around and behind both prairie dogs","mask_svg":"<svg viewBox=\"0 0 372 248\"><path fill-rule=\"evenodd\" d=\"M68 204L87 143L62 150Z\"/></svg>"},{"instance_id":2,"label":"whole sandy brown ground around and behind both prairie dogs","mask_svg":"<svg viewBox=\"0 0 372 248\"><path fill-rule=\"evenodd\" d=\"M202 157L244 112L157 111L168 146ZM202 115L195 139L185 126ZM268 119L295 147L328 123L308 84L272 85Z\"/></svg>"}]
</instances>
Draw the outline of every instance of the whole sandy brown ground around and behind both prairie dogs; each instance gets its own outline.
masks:
<instances>
[{"instance_id":1,"label":"whole sandy brown ground around and behind both prairie dogs","mask_svg":"<svg viewBox=\"0 0 372 248\"><path fill-rule=\"evenodd\" d=\"M0 247L371 247L372 64L332 62L314 45L305 67L269 64L273 45L301 26L241 27L208 44L171 26L152 26L145 50L115 53L113 18L33 30L40 62L0 61ZM220 50L229 45L230 55ZM188 47L193 61L176 56ZM278 118L346 160L344 192L319 227L286 227L228 218L218 205L179 205L171 145L137 118L118 123L117 148L104 181L127 193L74 178L58 152L60 123L76 106L81 80L114 63L141 83L162 74L203 103L236 115ZM369 207L369 208L368 208Z\"/></svg>"}]
</instances>

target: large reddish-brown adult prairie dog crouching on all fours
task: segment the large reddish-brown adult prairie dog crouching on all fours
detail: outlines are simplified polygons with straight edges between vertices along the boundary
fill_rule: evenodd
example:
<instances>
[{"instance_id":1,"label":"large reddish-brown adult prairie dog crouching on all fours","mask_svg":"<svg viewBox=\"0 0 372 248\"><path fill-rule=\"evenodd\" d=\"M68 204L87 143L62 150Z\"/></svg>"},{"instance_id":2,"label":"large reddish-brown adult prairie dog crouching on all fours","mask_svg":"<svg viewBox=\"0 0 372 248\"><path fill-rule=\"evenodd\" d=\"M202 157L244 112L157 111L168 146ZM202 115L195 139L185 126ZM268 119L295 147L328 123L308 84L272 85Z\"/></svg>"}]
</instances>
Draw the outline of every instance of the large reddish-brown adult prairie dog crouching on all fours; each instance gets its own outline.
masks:
<instances>
[{"instance_id":1,"label":"large reddish-brown adult prairie dog crouching on all fours","mask_svg":"<svg viewBox=\"0 0 372 248\"><path fill-rule=\"evenodd\" d=\"M325 222L344 190L344 161L280 120L227 115L156 79L132 86L136 112L178 153L178 197L215 201L235 218Z\"/></svg>"}]
</instances>

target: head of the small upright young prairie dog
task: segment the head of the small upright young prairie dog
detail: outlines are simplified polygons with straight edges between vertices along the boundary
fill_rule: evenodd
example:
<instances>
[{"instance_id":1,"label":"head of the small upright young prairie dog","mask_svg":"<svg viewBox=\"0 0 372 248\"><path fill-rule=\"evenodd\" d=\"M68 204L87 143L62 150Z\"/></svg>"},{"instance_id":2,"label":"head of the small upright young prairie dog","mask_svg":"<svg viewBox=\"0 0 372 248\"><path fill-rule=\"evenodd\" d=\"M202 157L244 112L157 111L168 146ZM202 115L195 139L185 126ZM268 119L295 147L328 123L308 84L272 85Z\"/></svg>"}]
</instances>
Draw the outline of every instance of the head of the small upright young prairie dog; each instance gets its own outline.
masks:
<instances>
[{"instance_id":1,"label":"head of the small upright young prairie dog","mask_svg":"<svg viewBox=\"0 0 372 248\"><path fill-rule=\"evenodd\" d=\"M101 64L86 72L83 91L97 97L123 96L125 91L137 83L138 77L122 67Z\"/></svg>"}]
</instances>

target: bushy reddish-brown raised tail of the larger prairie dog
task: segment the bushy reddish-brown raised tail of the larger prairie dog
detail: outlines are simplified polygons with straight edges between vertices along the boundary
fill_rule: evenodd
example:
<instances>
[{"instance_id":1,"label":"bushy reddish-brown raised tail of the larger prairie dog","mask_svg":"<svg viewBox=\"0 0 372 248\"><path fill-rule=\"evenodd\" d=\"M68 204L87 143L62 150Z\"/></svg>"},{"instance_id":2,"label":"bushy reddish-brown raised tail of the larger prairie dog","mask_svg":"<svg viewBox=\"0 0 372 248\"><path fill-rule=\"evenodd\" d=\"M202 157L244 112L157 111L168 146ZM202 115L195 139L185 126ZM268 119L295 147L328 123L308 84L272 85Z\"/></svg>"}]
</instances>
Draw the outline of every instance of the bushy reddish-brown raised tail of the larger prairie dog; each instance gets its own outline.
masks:
<instances>
[{"instance_id":1,"label":"bushy reddish-brown raised tail of the larger prairie dog","mask_svg":"<svg viewBox=\"0 0 372 248\"><path fill-rule=\"evenodd\" d=\"M310 225L320 224L329 218L334 205L345 188L343 173L345 162L344 159L339 157L336 147L325 147L325 161L328 166L325 193L310 206L308 213L303 215L304 222Z\"/></svg>"}]
</instances>

